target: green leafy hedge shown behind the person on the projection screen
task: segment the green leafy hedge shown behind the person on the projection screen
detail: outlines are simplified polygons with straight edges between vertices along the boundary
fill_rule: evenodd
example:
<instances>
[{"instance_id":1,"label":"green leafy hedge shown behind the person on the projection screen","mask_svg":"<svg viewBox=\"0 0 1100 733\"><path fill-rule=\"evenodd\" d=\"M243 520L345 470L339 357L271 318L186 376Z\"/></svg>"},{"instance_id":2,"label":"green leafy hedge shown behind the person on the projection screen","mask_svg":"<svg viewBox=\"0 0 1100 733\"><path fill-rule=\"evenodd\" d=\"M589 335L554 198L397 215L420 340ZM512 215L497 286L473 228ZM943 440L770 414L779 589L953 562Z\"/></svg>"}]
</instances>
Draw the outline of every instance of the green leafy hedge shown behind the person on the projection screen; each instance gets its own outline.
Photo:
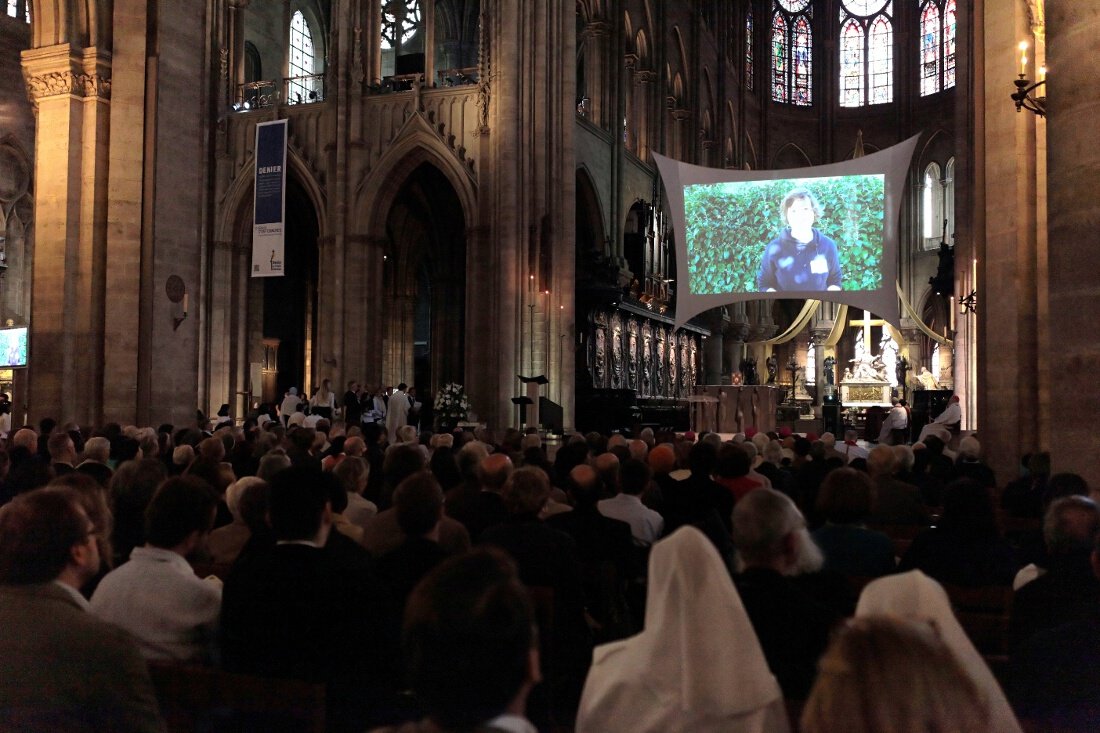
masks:
<instances>
[{"instance_id":1,"label":"green leafy hedge shown behind the person on the projection screen","mask_svg":"<svg viewBox=\"0 0 1100 733\"><path fill-rule=\"evenodd\" d=\"M821 204L814 227L836 242L844 289L881 287L884 176L860 175L684 186L691 292L755 292L765 250L787 226L783 197L798 186Z\"/></svg>"}]
</instances>

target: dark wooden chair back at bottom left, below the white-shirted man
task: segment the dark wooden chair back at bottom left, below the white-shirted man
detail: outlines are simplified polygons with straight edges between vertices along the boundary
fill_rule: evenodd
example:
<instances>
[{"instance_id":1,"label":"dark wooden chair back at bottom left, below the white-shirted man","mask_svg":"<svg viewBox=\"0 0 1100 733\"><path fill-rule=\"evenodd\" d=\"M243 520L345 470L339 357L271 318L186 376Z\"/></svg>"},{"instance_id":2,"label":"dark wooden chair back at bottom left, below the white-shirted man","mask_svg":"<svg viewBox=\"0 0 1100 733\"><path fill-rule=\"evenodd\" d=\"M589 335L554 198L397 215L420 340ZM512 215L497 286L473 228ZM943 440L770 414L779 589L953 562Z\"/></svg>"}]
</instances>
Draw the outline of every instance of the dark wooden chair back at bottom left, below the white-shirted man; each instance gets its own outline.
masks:
<instances>
[{"instance_id":1,"label":"dark wooden chair back at bottom left, below the white-shirted man","mask_svg":"<svg viewBox=\"0 0 1100 733\"><path fill-rule=\"evenodd\" d=\"M168 733L324 733L324 686L148 664Z\"/></svg>"}]
</instances>

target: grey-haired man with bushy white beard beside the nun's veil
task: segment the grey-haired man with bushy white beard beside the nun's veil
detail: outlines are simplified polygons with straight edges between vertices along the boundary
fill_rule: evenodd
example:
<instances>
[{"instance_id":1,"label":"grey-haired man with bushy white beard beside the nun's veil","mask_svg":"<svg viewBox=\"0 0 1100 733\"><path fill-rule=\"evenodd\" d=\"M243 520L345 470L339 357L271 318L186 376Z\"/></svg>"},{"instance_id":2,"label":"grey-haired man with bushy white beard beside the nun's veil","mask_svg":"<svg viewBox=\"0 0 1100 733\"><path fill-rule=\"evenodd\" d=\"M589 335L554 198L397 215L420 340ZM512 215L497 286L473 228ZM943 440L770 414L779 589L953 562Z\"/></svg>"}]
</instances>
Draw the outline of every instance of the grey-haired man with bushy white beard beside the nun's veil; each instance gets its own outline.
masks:
<instances>
[{"instance_id":1,"label":"grey-haired man with bushy white beard beside the nun's veil","mask_svg":"<svg viewBox=\"0 0 1100 733\"><path fill-rule=\"evenodd\" d=\"M734 507L734 582L783 696L804 700L840 614L795 576L820 570L824 558L794 502L771 489L746 494Z\"/></svg>"}]
</instances>

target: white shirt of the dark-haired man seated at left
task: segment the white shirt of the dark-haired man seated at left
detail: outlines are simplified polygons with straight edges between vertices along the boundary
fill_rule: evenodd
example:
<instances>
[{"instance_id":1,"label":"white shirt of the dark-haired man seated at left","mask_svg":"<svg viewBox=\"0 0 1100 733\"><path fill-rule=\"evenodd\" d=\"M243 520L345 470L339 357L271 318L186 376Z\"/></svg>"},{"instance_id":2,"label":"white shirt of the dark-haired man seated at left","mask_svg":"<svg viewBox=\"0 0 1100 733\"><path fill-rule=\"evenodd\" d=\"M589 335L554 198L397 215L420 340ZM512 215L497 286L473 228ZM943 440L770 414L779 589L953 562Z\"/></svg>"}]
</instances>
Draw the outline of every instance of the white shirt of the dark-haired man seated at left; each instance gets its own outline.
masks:
<instances>
[{"instance_id":1,"label":"white shirt of the dark-haired man seated at left","mask_svg":"<svg viewBox=\"0 0 1100 733\"><path fill-rule=\"evenodd\" d=\"M130 632L146 659L209 661L221 587L196 577L177 553L135 547L100 581L91 612Z\"/></svg>"}]
</instances>

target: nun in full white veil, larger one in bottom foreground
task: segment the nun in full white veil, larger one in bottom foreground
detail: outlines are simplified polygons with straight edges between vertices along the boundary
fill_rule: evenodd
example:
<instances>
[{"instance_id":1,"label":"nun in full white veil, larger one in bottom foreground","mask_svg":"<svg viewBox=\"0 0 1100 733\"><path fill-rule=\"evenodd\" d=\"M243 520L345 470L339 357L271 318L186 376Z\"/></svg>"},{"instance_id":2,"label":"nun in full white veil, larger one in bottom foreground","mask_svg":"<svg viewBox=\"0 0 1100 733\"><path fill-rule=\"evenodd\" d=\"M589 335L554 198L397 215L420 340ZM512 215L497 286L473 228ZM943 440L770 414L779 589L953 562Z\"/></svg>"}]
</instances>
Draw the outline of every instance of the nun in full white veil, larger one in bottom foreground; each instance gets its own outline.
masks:
<instances>
[{"instance_id":1,"label":"nun in full white veil, larger one in bottom foreground","mask_svg":"<svg viewBox=\"0 0 1100 733\"><path fill-rule=\"evenodd\" d=\"M684 526L653 546L646 627L596 647L576 733L788 733L783 693L717 550Z\"/></svg>"}]
</instances>

